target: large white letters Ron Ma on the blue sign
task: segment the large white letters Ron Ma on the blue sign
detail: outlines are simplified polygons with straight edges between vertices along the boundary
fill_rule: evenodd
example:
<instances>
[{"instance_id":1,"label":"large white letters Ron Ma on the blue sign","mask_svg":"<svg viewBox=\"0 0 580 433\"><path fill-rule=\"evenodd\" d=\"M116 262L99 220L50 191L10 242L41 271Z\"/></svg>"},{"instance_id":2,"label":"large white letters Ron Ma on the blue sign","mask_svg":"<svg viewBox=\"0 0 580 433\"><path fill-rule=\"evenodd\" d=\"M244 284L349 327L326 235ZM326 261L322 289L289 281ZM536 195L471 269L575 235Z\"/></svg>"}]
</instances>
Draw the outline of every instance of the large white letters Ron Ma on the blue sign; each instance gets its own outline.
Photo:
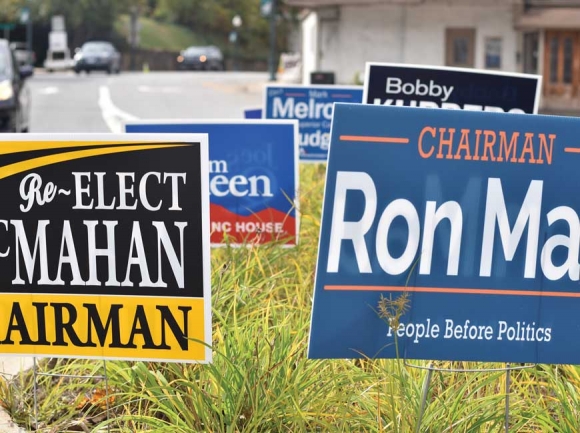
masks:
<instances>
[{"instance_id":1,"label":"large white letters Ron Ma on the blue sign","mask_svg":"<svg viewBox=\"0 0 580 433\"><path fill-rule=\"evenodd\" d=\"M540 250L542 190L543 181L532 180L530 182L515 223L513 227L510 227L501 179L489 178L487 180L479 276L490 277L492 274L497 227L499 242L507 262L514 259L515 252L522 242L524 231L527 230L524 278L536 278L538 254L540 254L540 268L547 279L555 281L566 275L572 281L580 279L578 249L578 245L580 245L580 219L574 209L559 206L546 214L549 226L556 221L563 221L567 223L570 233L568 236L557 234L549 237ZM345 218L346 209L349 207L347 203L349 191L358 191L364 196L364 208L358 221L347 221ZM418 257L417 254L420 253L419 274L429 275L431 273L435 230L443 220L448 220L451 230L446 274L448 276L458 275L464 223L463 211L458 202L446 201L438 205L434 201L427 201L422 224L415 205L403 198L388 203L380 215L378 215L378 211L380 209L378 208L377 190L368 173L349 171L336 173L328 261L326 263L327 272L337 273L339 271L343 241L348 241L352 243L354 248L356 265L361 274L373 272L370 254L374 254L382 271L390 275L401 275L410 271ZM377 216L379 216L378 220ZM393 257L389 251L387 239L391 224L396 218L405 220L408 235L403 253L398 257ZM369 252L365 236L372 228L375 229L375 249ZM568 256L564 263L555 264L552 261L553 252L557 247L567 249Z\"/></svg>"}]
</instances>

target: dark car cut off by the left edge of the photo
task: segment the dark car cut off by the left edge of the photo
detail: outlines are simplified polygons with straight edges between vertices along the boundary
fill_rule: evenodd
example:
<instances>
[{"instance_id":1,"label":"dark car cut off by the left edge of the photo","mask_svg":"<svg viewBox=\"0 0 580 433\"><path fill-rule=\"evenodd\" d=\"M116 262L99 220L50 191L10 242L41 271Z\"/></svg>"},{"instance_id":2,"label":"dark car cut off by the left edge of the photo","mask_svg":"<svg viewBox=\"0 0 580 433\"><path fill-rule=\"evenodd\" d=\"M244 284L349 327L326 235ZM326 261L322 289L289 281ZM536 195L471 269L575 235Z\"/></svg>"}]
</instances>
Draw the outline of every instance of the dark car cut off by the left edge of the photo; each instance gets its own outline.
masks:
<instances>
[{"instance_id":1,"label":"dark car cut off by the left edge of the photo","mask_svg":"<svg viewBox=\"0 0 580 433\"><path fill-rule=\"evenodd\" d=\"M28 132L32 65L18 65L6 39L0 39L0 132Z\"/></svg>"}]
</instances>

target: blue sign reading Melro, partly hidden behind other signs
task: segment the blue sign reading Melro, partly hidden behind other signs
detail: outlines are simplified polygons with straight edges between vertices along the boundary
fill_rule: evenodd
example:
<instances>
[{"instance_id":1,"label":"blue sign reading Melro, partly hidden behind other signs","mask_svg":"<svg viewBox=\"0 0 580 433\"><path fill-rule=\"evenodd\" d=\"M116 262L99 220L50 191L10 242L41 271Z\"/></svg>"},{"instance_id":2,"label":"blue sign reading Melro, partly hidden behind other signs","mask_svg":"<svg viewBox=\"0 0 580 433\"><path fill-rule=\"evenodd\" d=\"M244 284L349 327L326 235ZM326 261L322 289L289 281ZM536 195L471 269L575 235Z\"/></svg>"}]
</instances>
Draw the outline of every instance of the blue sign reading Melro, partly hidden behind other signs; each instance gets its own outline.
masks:
<instances>
[{"instance_id":1,"label":"blue sign reading Melro, partly hidden behind other signs","mask_svg":"<svg viewBox=\"0 0 580 433\"><path fill-rule=\"evenodd\" d=\"M265 91L264 117L298 119L300 161L326 162L335 102L362 102L362 86L277 86Z\"/></svg>"}]
</instances>

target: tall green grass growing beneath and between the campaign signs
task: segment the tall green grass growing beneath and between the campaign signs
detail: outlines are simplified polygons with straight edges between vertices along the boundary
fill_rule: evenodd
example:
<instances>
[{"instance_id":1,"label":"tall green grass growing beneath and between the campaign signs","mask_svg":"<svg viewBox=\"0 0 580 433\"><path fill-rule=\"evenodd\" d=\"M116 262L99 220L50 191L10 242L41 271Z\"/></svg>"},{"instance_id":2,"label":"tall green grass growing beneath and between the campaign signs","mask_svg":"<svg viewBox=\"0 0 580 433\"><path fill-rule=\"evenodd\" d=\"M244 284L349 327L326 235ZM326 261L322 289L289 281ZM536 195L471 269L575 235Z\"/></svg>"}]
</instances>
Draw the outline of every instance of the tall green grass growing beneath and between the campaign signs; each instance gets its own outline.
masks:
<instances>
[{"instance_id":1,"label":"tall green grass growing beneath and between the campaign signs","mask_svg":"<svg viewBox=\"0 0 580 433\"><path fill-rule=\"evenodd\" d=\"M301 167L297 248L212 251L213 364L107 362L105 384L101 362L45 360L42 371L92 378L40 377L38 431L417 431L426 370L400 359L306 359L323 177L322 165ZM512 372L510 431L580 431L579 389L576 366ZM30 372L0 380L0 403L28 428L31 390ZM503 431L505 396L502 372L436 371L418 431Z\"/></svg>"}]
</instances>

